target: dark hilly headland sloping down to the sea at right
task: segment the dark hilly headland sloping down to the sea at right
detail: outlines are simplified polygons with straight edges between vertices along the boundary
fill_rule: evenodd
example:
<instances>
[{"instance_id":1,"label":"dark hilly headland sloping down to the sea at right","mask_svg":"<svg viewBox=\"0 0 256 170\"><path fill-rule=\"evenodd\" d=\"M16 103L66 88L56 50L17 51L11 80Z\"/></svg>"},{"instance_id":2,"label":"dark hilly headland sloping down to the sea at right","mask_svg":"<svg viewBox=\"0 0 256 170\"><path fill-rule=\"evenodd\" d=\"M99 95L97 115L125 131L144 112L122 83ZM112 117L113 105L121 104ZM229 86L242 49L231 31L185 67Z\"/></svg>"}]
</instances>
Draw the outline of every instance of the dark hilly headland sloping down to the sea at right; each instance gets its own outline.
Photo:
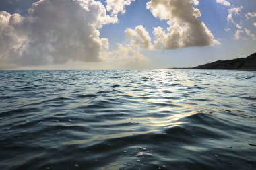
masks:
<instances>
[{"instance_id":1,"label":"dark hilly headland sloping down to the sea at right","mask_svg":"<svg viewBox=\"0 0 256 170\"><path fill-rule=\"evenodd\" d=\"M168 68L168 69L227 69L227 70L256 70L256 53L246 58L233 60L218 60L215 62L199 65L196 67Z\"/></svg>"}]
</instances>

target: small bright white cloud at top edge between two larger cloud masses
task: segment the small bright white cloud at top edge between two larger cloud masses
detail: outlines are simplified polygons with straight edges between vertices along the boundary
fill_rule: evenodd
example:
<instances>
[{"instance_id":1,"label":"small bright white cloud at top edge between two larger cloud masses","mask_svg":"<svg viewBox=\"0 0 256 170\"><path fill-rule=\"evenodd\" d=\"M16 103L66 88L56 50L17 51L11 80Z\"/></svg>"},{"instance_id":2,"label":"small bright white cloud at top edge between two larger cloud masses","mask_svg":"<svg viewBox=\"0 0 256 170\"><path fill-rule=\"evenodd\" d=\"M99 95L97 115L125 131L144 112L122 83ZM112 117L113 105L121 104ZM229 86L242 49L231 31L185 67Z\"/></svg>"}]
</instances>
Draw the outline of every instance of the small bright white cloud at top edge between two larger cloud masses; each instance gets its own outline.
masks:
<instances>
[{"instance_id":1,"label":"small bright white cloud at top edge between two larger cloud masses","mask_svg":"<svg viewBox=\"0 0 256 170\"><path fill-rule=\"evenodd\" d=\"M125 5L131 5L135 0L106 0L106 9L111 11L113 16L125 13Z\"/></svg>"}]
</instances>

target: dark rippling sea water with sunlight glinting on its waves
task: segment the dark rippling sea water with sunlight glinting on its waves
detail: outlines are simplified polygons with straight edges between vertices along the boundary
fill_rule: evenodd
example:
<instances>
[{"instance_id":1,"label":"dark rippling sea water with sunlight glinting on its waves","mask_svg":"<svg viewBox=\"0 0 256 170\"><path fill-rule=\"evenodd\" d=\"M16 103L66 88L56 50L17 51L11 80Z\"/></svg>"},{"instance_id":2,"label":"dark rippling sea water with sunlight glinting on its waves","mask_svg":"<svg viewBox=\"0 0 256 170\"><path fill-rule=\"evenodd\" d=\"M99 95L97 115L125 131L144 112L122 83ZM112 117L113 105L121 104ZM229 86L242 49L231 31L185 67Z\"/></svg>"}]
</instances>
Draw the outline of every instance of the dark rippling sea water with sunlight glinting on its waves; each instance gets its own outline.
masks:
<instances>
[{"instance_id":1,"label":"dark rippling sea water with sunlight glinting on its waves","mask_svg":"<svg viewBox=\"0 0 256 170\"><path fill-rule=\"evenodd\" d=\"M256 169L256 72L0 71L0 169Z\"/></svg>"}]
</instances>

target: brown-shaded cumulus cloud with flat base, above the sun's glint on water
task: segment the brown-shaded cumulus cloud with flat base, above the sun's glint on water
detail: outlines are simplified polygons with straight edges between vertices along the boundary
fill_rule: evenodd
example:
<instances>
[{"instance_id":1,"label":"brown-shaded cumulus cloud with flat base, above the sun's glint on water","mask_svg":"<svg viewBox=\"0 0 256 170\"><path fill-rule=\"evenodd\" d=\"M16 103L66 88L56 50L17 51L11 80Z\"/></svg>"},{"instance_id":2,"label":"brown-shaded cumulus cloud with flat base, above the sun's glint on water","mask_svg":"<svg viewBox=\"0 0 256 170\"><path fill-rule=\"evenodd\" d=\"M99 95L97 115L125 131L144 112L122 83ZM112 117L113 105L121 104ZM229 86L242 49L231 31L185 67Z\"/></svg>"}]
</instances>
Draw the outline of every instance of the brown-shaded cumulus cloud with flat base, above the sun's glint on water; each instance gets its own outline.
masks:
<instances>
[{"instance_id":1,"label":"brown-shaded cumulus cloud with flat base, above the sun's glint on water","mask_svg":"<svg viewBox=\"0 0 256 170\"><path fill-rule=\"evenodd\" d=\"M127 29L127 38L132 44L147 49L166 50L189 46L210 46L218 44L205 24L198 19L201 16L197 0L151 0L147 3L154 17L166 20L167 30L160 26L154 28L154 44L143 26L134 30Z\"/></svg>"}]
</instances>

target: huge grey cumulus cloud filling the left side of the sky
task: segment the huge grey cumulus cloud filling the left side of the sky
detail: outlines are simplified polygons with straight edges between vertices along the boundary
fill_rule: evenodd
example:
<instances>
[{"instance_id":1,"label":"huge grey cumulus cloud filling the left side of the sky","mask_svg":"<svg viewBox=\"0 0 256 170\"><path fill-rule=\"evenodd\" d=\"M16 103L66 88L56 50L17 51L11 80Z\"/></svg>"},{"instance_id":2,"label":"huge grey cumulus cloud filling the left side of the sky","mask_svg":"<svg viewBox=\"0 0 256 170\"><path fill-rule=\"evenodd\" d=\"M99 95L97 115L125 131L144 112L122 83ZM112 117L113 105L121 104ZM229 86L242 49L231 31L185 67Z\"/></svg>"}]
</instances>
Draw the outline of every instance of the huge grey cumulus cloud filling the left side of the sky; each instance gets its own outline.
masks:
<instances>
[{"instance_id":1,"label":"huge grey cumulus cloud filling the left side of the sky","mask_svg":"<svg viewBox=\"0 0 256 170\"><path fill-rule=\"evenodd\" d=\"M1 63L98 62L108 48L98 29L115 22L94 0L41 0L29 9L28 17L1 12Z\"/></svg>"}]
</instances>

